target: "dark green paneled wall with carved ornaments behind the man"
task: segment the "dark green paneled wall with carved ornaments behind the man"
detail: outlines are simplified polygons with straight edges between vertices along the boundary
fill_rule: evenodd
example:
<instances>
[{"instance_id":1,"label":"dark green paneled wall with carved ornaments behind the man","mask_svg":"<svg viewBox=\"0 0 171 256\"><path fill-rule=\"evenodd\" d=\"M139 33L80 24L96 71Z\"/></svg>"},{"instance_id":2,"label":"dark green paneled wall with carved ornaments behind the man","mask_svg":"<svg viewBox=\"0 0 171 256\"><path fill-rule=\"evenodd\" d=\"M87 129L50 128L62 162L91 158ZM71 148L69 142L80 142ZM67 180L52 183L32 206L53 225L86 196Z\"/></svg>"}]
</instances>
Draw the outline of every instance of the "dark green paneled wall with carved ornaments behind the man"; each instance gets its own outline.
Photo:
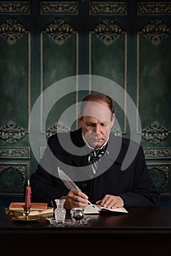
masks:
<instances>
[{"instance_id":1,"label":"dark green paneled wall with carved ornaments behind the man","mask_svg":"<svg viewBox=\"0 0 171 256\"><path fill-rule=\"evenodd\" d=\"M23 196L26 178L37 169L28 140L28 118L39 95L61 79L88 74L115 81L137 105L149 171L161 194L170 195L170 1L3 2L6 7L0 1L0 195ZM11 18L9 24L7 20ZM107 84L104 86L107 88ZM61 97L47 120L47 102L42 98L35 120L40 134L39 156L45 149L42 138L55 132L61 114L94 91L89 81L85 91L79 89L83 88L78 79L75 92ZM64 88L60 93L65 94ZM115 96L114 89L110 96ZM126 110L124 95L119 97ZM48 100L54 98L58 95L50 95ZM129 137L123 109L114 103L123 136ZM73 116L66 113L61 120L62 129L67 129L72 119L72 129L78 127L76 107L74 112ZM136 120L132 127L141 132Z\"/></svg>"}]
</instances>

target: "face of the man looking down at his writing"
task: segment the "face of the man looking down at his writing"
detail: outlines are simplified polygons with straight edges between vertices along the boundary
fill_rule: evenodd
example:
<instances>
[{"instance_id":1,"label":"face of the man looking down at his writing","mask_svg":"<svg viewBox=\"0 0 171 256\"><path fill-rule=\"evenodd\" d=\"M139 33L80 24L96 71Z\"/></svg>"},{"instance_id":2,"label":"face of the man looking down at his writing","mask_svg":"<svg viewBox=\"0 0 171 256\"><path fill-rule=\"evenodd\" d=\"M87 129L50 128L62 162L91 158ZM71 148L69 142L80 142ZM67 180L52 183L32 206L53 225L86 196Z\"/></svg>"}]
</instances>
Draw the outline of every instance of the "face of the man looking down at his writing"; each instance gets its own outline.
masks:
<instances>
[{"instance_id":1,"label":"face of the man looking down at his writing","mask_svg":"<svg viewBox=\"0 0 171 256\"><path fill-rule=\"evenodd\" d=\"M115 116L106 102L84 102L83 116L79 116L80 127L87 143L92 148L100 148L109 138Z\"/></svg>"}]
</instances>

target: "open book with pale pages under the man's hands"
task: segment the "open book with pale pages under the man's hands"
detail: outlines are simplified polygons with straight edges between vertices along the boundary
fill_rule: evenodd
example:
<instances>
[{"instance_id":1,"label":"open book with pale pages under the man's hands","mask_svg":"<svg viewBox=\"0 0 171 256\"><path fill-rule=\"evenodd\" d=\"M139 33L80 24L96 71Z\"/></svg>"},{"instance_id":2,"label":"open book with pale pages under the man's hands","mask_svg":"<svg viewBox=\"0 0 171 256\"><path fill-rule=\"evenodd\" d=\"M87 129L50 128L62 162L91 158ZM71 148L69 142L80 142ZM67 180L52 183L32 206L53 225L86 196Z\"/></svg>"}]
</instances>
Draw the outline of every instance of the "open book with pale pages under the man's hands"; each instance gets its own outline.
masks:
<instances>
[{"instance_id":1,"label":"open book with pale pages under the man's hands","mask_svg":"<svg viewBox=\"0 0 171 256\"><path fill-rule=\"evenodd\" d=\"M97 206L95 204L92 204L92 205L88 204L88 206L86 206L86 208L84 209L85 214L99 214L102 211L113 211L115 213L121 213L121 214L128 214L129 213L123 207L112 209L112 208Z\"/></svg>"}]
</instances>

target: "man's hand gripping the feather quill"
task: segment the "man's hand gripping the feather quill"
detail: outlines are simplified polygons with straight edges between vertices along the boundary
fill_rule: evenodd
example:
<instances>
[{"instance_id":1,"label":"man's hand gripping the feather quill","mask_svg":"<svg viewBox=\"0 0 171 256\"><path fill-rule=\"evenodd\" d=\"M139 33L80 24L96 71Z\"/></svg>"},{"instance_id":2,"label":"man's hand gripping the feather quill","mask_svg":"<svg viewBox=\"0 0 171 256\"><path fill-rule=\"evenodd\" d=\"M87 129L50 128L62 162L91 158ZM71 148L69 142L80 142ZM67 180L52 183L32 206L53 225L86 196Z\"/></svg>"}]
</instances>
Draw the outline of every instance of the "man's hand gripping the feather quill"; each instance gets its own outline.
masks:
<instances>
[{"instance_id":1,"label":"man's hand gripping the feather quill","mask_svg":"<svg viewBox=\"0 0 171 256\"><path fill-rule=\"evenodd\" d=\"M69 190L67 195L60 197L65 199L64 208L85 208L88 205L88 196L79 190Z\"/></svg>"}]
</instances>

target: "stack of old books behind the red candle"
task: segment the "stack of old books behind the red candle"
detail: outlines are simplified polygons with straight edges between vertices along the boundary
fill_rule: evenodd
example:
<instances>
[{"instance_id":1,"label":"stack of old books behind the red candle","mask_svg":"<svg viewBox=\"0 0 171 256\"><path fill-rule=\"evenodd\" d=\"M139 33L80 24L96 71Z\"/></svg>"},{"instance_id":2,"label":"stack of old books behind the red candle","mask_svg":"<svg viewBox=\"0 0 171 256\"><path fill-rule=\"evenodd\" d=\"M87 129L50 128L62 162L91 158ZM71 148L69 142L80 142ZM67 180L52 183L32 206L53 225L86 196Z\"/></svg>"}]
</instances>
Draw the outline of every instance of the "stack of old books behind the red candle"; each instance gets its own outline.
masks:
<instances>
[{"instance_id":1,"label":"stack of old books behind the red candle","mask_svg":"<svg viewBox=\"0 0 171 256\"><path fill-rule=\"evenodd\" d=\"M23 206L24 202L12 202L9 207L4 208L5 214L11 216L23 216ZM53 216L53 207L47 206L47 203L31 203L29 216L37 216L42 214L48 214L48 216Z\"/></svg>"}]
</instances>

